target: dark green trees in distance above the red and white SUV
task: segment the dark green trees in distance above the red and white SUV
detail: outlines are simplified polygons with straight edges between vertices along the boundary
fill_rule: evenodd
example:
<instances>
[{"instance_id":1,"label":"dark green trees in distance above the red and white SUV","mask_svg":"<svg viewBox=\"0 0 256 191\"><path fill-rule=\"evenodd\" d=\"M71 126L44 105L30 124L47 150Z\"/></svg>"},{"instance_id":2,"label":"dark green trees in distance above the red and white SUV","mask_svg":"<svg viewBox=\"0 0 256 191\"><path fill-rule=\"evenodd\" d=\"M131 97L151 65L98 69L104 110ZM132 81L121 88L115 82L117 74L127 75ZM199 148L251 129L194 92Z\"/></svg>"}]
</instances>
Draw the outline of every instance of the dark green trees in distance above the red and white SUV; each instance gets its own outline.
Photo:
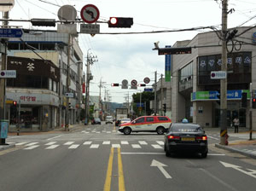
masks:
<instances>
[{"instance_id":1,"label":"dark green trees in distance above the red and white SUV","mask_svg":"<svg viewBox=\"0 0 256 191\"><path fill-rule=\"evenodd\" d=\"M136 94L132 95L132 99L134 101L133 103L133 110L137 116L140 115L139 108L137 107L137 103L140 102L140 95L142 94L142 103L145 104L146 101L146 113L145 111L145 106L143 107L143 115L150 115L152 113L152 109L149 108L150 106L150 101L154 100L154 92L148 92L148 91L143 91L138 92Z\"/></svg>"}]
</instances>

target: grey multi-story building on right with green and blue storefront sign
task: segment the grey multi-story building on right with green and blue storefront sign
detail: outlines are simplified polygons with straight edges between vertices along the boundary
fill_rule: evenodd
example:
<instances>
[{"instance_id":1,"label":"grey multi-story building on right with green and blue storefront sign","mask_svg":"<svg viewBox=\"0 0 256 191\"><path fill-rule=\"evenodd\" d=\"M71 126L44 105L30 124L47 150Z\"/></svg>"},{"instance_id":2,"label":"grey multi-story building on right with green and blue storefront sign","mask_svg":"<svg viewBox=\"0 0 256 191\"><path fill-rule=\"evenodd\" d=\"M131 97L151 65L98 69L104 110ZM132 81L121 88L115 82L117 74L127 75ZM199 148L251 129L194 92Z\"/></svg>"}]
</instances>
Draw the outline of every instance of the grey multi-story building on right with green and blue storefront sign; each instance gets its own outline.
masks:
<instances>
[{"instance_id":1,"label":"grey multi-story building on right with green and blue storefront sign","mask_svg":"<svg viewBox=\"0 0 256 191\"><path fill-rule=\"evenodd\" d=\"M256 31L240 27L236 38L228 43L227 124L239 117L241 126L249 127L251 96L256 90ZM221 40L216 32L199 33L191 40L176 42L172 47L192 47L192 53L172 55L172 121L186 117L203 126L219 126L218 92L220 79L211 72L221 70ZM241 105L242 92L247 93L247 107Z\"/></svg>"}]
</instances>

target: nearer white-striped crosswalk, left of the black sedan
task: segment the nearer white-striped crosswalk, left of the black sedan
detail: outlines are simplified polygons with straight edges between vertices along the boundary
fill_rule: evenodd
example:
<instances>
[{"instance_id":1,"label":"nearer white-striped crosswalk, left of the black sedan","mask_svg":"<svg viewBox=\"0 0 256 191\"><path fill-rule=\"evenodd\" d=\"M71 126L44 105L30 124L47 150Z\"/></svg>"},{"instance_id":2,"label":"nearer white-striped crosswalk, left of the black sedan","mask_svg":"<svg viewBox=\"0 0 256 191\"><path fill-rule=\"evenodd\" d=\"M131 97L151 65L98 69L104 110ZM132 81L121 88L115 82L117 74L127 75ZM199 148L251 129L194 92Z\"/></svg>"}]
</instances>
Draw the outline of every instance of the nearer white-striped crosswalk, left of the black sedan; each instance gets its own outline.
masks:
<instances>
[{"instance_id":1,"label":"nearer white-striped crosswalk, left of the black sedan","mask_svg":"<svg viewBox=\"0 0 256 191\"><path fill-rule=\"evenodd\" d=\"M24 150L32 150L34 148L43 148L46 150L51 150L60 147L66 147L68 149L76 149L79 147L86 147L86 148L101 148L104 146L110 146L112 148L134 148L140 149L143 147L150 147L155 149L163 149L164 142L162 141L118 141L118 142L111 142L111 141L85 141L85 142L17 142L15 143L16 146L23 146Z\"/></svg>"}]
</instances>

